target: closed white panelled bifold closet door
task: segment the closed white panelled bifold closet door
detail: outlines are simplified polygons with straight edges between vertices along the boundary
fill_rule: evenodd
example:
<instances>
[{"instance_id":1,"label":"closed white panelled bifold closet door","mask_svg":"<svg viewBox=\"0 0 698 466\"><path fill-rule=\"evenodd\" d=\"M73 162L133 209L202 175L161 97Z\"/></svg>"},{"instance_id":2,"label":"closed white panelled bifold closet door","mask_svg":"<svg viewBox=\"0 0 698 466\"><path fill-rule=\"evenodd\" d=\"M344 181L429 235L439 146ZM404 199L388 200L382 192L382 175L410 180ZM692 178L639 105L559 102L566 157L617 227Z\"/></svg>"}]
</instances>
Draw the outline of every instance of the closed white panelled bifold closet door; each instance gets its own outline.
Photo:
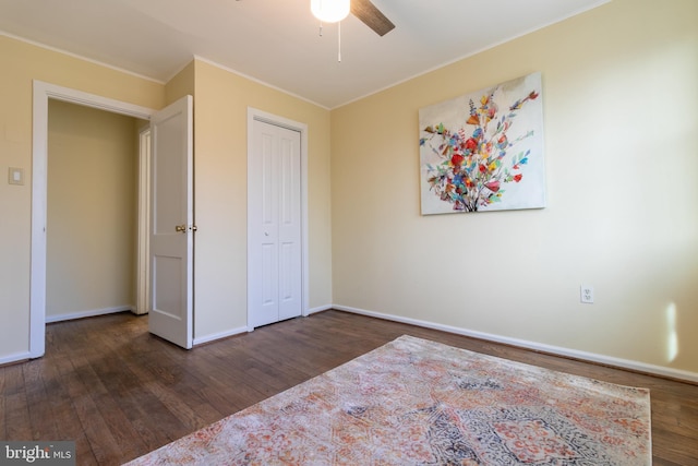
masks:
<instances>
[{"instance_id":1,"label":"closed white panelled bifold closet door","mask_svg":"<svg viewBox=\"0 0 698 466\"><path fill-rule=\"evenodd\" d=\"M248 180L251 327L301 315L300 133L253 121Z\"/></svg>"}]
</instances>

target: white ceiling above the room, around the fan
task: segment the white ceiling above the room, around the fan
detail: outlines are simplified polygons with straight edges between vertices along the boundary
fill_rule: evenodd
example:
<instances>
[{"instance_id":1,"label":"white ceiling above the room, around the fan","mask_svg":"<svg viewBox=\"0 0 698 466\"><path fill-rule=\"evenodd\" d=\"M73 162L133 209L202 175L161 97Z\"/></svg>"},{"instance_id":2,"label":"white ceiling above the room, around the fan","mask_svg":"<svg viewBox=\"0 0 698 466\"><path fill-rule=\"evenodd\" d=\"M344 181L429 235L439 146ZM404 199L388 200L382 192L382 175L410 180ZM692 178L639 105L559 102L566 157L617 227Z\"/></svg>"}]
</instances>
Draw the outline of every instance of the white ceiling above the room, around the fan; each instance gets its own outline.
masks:
<instances>
[{"instance_id":1,"label":"white ceiling above the room, around the fan","mask_svg":"<svg viewBox=\"0 0 698 466\"><path fill-rule=\"evenodd\" d=\"M0 0L0 32L160 82L193 57L335 108L610 0L373 0L396 28L310 0Z\"/></svg>"}]
</instances>

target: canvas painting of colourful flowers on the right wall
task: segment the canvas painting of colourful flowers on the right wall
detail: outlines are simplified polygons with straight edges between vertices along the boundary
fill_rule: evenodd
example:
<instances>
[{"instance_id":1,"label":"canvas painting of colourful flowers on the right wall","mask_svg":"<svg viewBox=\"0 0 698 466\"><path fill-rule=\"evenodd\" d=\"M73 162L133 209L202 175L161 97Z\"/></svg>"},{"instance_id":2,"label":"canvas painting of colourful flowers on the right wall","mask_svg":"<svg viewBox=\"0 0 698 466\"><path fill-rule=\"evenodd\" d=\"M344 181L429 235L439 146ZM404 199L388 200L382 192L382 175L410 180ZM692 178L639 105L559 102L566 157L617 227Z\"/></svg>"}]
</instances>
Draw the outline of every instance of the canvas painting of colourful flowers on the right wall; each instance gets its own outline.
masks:
<instances>
[{"instance_id":1,"label":"canvas painting of colourful flowers on the right wall","mask_svg":"<svg viewBox=\"0 0 698 466\"><path fill-rule=\"evenodd\" d=\"M541 75L420 109L422 215L545 206Z\"/></svg>"}]
</instances>

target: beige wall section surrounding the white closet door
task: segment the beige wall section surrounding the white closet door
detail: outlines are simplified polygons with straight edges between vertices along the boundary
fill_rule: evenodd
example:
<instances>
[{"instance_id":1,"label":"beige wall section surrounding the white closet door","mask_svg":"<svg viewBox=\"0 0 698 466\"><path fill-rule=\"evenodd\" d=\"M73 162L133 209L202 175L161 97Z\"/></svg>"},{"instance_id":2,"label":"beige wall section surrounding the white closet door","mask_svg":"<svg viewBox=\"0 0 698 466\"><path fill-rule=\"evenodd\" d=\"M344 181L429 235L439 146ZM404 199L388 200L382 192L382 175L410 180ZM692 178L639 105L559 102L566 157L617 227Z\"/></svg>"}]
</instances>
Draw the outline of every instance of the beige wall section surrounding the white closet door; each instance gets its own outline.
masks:
<instances>
[{"instance_id":1,"label":"beige wall section surrounding the white closet door","mask_svg":"<svg viewBox=\"0 0 698 466\"><path fill-rule=\"evenodd\" d=\"M194 75L195 338L246 326L248 107L308 124L309 306L329 306L329 111L205 61Z\"/></svg>"}]
</instances>

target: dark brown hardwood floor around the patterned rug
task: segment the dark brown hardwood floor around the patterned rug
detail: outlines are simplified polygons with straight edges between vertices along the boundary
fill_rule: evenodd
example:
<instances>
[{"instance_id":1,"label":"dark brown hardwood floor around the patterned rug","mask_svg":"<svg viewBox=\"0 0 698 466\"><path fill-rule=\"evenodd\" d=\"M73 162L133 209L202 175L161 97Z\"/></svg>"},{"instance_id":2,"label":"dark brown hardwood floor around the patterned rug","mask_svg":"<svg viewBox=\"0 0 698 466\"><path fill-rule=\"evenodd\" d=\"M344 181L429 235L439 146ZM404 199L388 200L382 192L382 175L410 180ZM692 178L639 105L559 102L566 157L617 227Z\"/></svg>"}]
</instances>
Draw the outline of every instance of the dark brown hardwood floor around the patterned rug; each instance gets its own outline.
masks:
<instances>
[{"instance_id":1,"label":"dark brown hardwood floor around the patterned rug","mask_svg":"<svg viewBox=\"0 0 698 466\"><path fill-rule=\"evenodd\" d=\"M654 465L698 465L698 386L429 328L326 311L180 349L129 313L47 326L46 356L0 368L0 439L74 440L119 465L409 334L651 390Z\"/></svg>"}]
</instances>

